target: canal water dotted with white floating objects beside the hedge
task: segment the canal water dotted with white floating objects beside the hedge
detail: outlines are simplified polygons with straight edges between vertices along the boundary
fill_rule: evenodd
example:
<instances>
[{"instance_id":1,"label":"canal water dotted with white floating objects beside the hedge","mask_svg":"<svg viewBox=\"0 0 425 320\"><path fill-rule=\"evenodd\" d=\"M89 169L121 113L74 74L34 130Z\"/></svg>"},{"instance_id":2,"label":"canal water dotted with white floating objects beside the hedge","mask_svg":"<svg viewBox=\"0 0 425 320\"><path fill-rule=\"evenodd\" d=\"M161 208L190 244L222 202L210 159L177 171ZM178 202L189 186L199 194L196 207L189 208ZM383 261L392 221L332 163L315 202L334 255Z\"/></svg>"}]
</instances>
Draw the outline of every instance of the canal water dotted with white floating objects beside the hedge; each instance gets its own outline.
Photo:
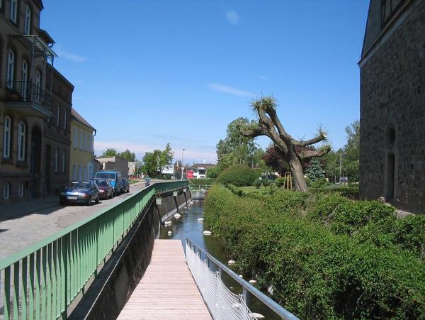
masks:
<instances>
[{"instance_id":1,"label":"canal water dotted with white floating objects beside the hedge","mask_svg":"<svg viewBox=\"0 0 425 320\"><path fill-rule=\"evenodd\" d=\"M208 251L210 255L214 256L221 263L227 265L229 258L225 254L225 250L220 243L213 236L204 236L203 222L199 222L199 218L203 218L204 202L202 200L195 200L188 209L181 209L179 213L181 218L175 219L171 217L171 226L162 226L159 238L161 239L181 239L184 247L186 238L198 244L201 248ZM171 231L171 236L168 232ZM240 285L232 280L231 277L223 277L225 285L229 287L234 293L241 293L242 288ZM280 319L273 311L265 307L255 297L250 297L248 300L248 307L252 312L263 314L265 319Z\"/></svg>"}]
</instances>

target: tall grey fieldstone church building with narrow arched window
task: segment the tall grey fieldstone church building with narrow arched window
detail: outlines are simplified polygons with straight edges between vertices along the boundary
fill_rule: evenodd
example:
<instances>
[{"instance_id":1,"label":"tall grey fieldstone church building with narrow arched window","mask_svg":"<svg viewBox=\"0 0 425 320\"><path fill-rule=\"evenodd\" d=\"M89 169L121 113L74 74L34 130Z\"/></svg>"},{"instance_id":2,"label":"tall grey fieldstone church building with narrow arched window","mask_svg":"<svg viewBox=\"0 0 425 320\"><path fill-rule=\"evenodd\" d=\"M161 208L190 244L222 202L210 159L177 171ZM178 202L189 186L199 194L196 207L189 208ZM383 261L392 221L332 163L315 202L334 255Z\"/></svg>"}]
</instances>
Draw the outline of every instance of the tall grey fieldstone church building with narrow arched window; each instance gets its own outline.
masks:
<instances>
[{"instance_id":1,"label":"tall grey fieldstone church building with narrow arched window","mask_svg":"<svg viewBox=\"0 0 425 320\"><path fill-rule=\"evenodd\" d=\"M425 0L371 0L359 66L361 197L425 213Z\"/></svg>"}]
</instances>

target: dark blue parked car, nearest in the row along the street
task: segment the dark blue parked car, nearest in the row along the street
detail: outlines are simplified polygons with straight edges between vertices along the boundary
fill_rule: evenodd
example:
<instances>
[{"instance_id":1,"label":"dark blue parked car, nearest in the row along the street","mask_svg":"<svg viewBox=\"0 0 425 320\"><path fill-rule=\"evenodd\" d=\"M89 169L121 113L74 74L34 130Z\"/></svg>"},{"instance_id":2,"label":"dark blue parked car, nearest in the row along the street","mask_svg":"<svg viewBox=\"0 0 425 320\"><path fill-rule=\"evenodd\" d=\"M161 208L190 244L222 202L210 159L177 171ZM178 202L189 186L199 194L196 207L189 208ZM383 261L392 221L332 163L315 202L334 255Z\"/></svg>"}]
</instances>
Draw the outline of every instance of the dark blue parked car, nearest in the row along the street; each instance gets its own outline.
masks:
<instances>
[{"instance_id":1,"label":"dark blue parked car, nearest in the row along the street","mask_svg":"<svg viewBox=\"0 0 425 320\"><path fill-rule=\"evenodd\" d=\"M69 187L60 193L60 204L86 204L90 205L94 200L99 203L101 195L94 181L73 181Z\"/></svg>"}]
</instances>

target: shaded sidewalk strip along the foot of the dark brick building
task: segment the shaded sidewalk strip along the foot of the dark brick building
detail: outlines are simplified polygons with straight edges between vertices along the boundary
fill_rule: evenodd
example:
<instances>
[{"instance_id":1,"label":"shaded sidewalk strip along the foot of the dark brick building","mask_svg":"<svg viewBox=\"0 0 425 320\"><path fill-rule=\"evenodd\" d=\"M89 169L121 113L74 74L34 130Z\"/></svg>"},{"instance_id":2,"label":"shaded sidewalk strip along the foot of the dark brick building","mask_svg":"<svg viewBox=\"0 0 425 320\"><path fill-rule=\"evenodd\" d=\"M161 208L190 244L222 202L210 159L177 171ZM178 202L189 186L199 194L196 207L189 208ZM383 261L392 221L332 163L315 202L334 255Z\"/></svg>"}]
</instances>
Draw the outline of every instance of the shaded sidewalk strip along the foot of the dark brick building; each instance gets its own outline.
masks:
<instances>
[{"instance_id":1,"label":"shaded sidewalk strip along the foot of the dark brick building","mask_svg":"<svg viewBox=\"0 0 425 320\"><path fill-rule=\"evenodd\" d=\"M49 195L45 198L34 198L26 202L17 204L2 204L0 206L0 221L16 219L28 214L35 214L38 211L59 206L59 197Z\"/></svg>"}]
</instances>

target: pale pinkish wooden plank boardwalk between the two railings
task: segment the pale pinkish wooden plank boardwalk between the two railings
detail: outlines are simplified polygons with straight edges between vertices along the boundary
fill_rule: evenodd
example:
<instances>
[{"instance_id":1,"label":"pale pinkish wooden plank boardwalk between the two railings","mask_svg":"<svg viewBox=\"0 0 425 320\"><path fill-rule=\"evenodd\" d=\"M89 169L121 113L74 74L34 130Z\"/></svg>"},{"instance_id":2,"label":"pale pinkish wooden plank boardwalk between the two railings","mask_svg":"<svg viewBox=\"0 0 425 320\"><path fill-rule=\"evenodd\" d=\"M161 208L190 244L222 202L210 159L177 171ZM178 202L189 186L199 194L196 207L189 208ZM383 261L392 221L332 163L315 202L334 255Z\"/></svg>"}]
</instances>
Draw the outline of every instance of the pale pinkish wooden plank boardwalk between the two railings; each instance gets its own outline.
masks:
<instances>
[{"instance_id":1,"label":"pale pinkish wooden plank boardwalk between the two railings","mask_svg":"<svg viewBox=\"0 0 425 320\"><path fill-rule=\"evenodd\" d=\"M155 240L145 275L118 319L211 319L180 240Z\"/></svg>"}]
</instances>

